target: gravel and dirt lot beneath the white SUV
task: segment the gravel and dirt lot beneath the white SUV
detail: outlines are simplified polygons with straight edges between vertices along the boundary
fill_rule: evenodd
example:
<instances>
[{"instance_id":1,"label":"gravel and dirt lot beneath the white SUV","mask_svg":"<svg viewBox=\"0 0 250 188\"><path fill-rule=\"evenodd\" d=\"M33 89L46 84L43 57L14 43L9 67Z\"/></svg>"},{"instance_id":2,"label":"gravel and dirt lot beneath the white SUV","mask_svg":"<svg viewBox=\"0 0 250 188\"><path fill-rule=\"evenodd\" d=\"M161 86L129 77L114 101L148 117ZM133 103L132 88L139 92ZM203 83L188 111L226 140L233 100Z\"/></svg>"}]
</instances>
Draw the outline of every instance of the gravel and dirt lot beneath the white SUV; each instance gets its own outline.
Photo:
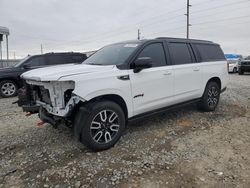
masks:
<instances>
[{"instance_id":1,"label":"gravel and dirt lot beneath the white SUV","mask_svg":"<svg viewBox=\"0 0 250 188\"><path fill-rule=\"evenodd\" d=\"M250 75L230 75L213 113L195 105L130 124L93 153L0 99L2 187L250 187Z\"/></svg>"}]
</instances>

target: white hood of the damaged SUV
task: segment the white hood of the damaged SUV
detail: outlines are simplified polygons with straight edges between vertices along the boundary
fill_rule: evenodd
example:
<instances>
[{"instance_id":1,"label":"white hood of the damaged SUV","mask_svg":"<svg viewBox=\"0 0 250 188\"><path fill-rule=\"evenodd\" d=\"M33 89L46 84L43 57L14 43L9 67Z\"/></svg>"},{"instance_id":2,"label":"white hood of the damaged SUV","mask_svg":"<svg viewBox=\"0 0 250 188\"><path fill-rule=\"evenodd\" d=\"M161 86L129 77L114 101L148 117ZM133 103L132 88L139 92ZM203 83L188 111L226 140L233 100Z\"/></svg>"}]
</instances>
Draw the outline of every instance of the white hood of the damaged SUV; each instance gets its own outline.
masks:
<instances>
[{"instance_id":1,"label":"white hood of the damaged SUV","mask_svg":"<svg viewBox=\"0 0 250 188\"><path fill-rule=\"evenodd\" d=\"M110 70L114 65L100 66L100 65L87 65L87 64L67 64L57 65L46 68L39 68L25 72L21 75L22 78L27 80L36 81L57 81L62 77L91 74L94 72L105 72Z\"/></svg>"}]
</instances>

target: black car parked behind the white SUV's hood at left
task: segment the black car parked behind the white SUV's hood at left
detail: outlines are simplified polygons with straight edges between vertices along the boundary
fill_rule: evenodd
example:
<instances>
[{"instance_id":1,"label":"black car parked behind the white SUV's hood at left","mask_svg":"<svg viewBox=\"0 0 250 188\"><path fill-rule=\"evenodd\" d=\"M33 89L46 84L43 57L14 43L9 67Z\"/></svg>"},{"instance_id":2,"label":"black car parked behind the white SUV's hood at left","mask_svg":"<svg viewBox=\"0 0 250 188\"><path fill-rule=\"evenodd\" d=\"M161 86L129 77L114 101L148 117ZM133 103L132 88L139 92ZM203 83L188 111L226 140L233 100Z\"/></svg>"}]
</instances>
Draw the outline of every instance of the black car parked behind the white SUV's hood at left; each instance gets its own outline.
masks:
<instances>
[{"instance_id":1,"label":"black car parked behind the white SUV's hood at left","mask_svg":"<svg viewBox=\"0 0 250 188\"><path fill-rule=\"evenodd\" d=\"M57 64L81 63L85 59L85 54L73 52L27 56L12 67L0 69L0 96L15 96L23 85L20 75L26 71Z\"/></svg>"}]
</instances>

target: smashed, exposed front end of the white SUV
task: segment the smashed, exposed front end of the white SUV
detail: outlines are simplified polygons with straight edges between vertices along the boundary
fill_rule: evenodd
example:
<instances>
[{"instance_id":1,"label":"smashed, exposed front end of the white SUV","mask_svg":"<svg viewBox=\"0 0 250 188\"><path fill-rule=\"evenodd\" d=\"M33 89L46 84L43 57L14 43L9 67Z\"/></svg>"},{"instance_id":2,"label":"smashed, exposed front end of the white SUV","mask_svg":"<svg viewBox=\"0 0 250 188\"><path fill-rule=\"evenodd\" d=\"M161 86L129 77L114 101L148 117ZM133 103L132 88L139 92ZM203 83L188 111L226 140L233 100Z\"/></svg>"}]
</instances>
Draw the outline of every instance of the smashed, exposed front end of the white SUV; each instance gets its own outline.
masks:
<instances>
[{"instance_id":1,"label":"smashed, exposed front end of the white SUV","mask_svg":"<svg viewBox=\"0 0 250 188\"><path fill-rule=\"evenodd\" d=\"M73 81L33 81L26 80L18 91L18 106L29 114L39 113L46 123L56 125L61 120L70 119L75 106L84 101L72 93Z\"/></svg>"}]
</instances>

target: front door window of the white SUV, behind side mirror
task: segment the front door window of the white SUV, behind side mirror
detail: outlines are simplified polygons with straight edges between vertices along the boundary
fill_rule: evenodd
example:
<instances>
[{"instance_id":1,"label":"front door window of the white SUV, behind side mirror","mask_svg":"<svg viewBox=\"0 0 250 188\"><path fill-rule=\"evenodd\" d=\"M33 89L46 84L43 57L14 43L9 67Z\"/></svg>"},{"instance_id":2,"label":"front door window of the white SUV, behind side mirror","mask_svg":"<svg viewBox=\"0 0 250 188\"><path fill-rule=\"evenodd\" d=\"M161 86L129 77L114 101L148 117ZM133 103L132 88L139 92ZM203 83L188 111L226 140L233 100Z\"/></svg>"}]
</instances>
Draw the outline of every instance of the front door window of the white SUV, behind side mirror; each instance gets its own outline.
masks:
<instances>
[{"instance_id":1,"label":"front door window of the white SUV, behind side mirror","mask_svg":"<svg viewBox=\"0 0 250 188\"><path fill-rule=\"evenodd\" d=\"M153 60L153 67L166 65L164 49L161 43L149 44L146 46L137 58L150 57Z\"/></svg>"}]
</instances>

